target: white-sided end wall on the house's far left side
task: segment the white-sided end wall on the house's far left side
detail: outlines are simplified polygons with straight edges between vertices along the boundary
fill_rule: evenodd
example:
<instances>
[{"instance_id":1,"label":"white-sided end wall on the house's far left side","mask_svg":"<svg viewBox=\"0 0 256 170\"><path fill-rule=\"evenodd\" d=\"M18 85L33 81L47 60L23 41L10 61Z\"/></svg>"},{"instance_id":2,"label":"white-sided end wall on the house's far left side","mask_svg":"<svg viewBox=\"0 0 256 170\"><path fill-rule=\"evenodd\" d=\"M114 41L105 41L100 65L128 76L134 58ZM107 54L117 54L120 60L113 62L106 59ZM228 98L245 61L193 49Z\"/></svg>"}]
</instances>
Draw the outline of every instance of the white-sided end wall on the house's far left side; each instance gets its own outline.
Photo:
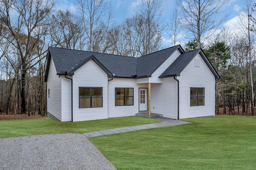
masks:
<instances>
[{"instance_id":1,"label":"white-sided end wall on the house's far left side","mask_svg":"<svg viewBox=\"0 0 256 170\"><path fill-rule=\"evenodd\" d=\"M61 78L57 75L56 68L51 58L48 80L47 80L47 91L50 89L50 94L47 93L47 111L54 117L62 121L61 109L62 109L62 96L61 96Z\"/></svg>"}]
</instances>

